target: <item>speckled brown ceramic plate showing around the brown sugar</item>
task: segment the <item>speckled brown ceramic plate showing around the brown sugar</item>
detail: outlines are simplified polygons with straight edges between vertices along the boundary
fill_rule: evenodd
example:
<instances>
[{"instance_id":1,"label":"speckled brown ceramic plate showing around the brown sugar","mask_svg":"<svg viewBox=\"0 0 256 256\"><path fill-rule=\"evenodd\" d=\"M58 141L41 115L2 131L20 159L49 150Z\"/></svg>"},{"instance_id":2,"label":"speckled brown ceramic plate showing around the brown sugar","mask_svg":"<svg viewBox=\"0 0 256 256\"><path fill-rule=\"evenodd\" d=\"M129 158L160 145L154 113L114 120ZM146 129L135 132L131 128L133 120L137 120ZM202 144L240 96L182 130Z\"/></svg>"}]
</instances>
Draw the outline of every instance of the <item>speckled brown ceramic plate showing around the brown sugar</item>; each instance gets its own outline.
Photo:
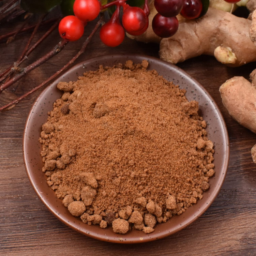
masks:
<instances>
[{"instance_id":1,"label":"speckled brown ceramic plate showing around the brown sugar","mask_svg":"<svg viewBox=\"0 0 256 256\"><path fill-rule=\"evenodd\" d=\"M189 207L183 214L173 216L166 223L157 224L155 231L144 234L142 231L132 230L125 235L115 234L111 227L101 229L99 225L87 225L78 217L72 216L66 207L62 205L46 183L46 176L42 172L42 158L40 155L41 144L38 139L42 124L47 120L47 112L52 110L52 104L61 95L57 89L59 81L77 80L79 75L89 70L96 70L100 64L112 66L124 63L126 60L141 63L146 59L149 69L155 69L167 80L173 81L180 88L186 89L186 97L189 101L199 102L200 114L208 122L207 132L210 140L214 142L215 175L210 179L210 189L204 192L204 197ZM116 243L140 243L160 239L185 228L203 214L211 205L223 184L229 160L228 134L222 114L209 93L190 75L175 65L149 56L138 55L106 55L96 57L72 67L64 75L47 87L35 101L24 131L23 138L24 162L29 180L39 198L60 221L81 232L84 235Z\"/></svg>"}]
</instances>

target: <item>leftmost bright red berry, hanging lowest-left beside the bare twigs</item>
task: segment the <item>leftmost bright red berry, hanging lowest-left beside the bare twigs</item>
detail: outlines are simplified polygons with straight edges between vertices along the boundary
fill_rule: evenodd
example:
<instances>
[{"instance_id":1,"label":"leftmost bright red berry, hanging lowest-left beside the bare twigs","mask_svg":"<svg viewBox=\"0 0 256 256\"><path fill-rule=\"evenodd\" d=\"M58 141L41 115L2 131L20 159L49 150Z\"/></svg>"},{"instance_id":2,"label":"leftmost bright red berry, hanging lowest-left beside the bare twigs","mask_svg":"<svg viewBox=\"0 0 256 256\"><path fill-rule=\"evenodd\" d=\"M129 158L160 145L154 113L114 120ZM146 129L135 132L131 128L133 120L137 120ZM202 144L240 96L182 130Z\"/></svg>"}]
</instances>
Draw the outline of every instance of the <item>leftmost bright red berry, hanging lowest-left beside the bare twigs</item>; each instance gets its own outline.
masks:
<instances>
[{"instance_id":1,"label":"leftmost bright red berry, hanging lowest-left beside the bare twigs","mask_svg":"<svg viewBox=\"0 0 256 256\"><path fill-rule=\"evenodd\" d=\"M66 16L59 23L60 36L68 41L76 41L84 34L84 26L84 22L76 16Z\"/></svg>"}]
</instances>

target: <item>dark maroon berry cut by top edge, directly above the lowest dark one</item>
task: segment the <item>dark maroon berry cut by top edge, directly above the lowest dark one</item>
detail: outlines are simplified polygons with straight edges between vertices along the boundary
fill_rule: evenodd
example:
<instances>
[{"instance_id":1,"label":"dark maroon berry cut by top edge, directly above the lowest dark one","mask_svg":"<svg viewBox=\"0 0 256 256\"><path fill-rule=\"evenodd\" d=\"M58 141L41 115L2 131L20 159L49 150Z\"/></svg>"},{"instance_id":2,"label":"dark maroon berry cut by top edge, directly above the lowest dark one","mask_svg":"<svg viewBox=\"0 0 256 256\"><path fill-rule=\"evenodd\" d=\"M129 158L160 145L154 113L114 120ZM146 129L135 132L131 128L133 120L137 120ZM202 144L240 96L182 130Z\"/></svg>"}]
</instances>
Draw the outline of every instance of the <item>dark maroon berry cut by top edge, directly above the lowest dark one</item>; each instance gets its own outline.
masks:
<instances>
[{"instance_id":1,"label":"dark maroon berry cut by top edge, directly above the lowest dark one","mask_svg":"<svg viewBox=\"0 0 256 256\"><path fill-rule=\"evenodd\" d=\"M157 12L165 17L178 15L183 7L183 0L154 0Z\"/></svg>"}]
</instances>

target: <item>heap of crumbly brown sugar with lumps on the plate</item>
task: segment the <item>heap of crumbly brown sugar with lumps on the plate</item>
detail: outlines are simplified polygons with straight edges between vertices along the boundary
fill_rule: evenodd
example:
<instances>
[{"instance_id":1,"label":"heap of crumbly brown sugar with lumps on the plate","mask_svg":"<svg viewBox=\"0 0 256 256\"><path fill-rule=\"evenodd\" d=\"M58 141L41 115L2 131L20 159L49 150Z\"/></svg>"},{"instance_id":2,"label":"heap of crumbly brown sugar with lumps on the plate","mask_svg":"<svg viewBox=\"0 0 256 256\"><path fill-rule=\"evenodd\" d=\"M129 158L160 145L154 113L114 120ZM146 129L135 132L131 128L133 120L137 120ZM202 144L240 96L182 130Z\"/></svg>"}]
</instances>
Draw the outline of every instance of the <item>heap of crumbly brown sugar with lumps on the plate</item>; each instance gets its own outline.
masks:
<instances>
[{"instance_id":1,"label":"heap of crumbly brown sugar with lumps on the plate","mask_svg":"<svg viewBox=\"0 0 256 256\"><path fill-rule=\"evenodd\" d=\"M121 234L183 213L214 175L198 102L147 66L127 61L60 82L40 138L47 183L70 213Z\"/></svg>"}]
</instances>

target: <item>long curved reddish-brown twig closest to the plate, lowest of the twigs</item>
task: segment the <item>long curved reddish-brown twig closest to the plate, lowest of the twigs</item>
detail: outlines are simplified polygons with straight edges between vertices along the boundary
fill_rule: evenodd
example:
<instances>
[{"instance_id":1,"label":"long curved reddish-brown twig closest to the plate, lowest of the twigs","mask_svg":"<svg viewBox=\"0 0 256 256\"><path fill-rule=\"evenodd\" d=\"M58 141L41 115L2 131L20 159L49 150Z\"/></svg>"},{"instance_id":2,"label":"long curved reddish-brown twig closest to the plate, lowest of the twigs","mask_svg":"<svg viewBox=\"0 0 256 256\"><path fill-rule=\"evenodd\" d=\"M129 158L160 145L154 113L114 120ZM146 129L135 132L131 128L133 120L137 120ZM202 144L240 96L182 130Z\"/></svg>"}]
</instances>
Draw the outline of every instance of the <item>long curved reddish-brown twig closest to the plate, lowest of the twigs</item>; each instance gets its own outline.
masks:
<instances>
[{"instance_id":1,"label":"long curved reddish-brown twig closest to the plate, lowest of the twigs","mask_svg":"<svg viewBox=\"0 0 256 256\"><path fill-rule=\"evenodd\" d=\"M2 110L9 110L11 108L13 108L19 101L21 101L22 99L24 99L25 97L27 97L28 95L30 95L31 93L35 92L36 90L42 88L44 85L48 84L48 82L50 82L52 79L56 78L58 75L61 74L61 72L63 72L67 67L69 67L71 64L74 63L74 61L85 52L86 46L90 43L93 35L96 33L97 29L102 25L102 21L103 21L103 17L101 17L99 19L99 21L97 22L97 24L95 25L94 29L92 30L92 32L90 33L90 35L87 37L87 39L85 40L85 42L83 43L81 49L77 52L77 54L65 65L63 66L60 70L58 70L55 74L53 74L52 76L50 76L47 80L45 80L44 82L42 82L42 84L40 84L39 86L33 88L31 91L25 93L24 95L18 97L16 100L10 102L9 104L0 107L0 111Z\"/></svg>"}]
</instances>

